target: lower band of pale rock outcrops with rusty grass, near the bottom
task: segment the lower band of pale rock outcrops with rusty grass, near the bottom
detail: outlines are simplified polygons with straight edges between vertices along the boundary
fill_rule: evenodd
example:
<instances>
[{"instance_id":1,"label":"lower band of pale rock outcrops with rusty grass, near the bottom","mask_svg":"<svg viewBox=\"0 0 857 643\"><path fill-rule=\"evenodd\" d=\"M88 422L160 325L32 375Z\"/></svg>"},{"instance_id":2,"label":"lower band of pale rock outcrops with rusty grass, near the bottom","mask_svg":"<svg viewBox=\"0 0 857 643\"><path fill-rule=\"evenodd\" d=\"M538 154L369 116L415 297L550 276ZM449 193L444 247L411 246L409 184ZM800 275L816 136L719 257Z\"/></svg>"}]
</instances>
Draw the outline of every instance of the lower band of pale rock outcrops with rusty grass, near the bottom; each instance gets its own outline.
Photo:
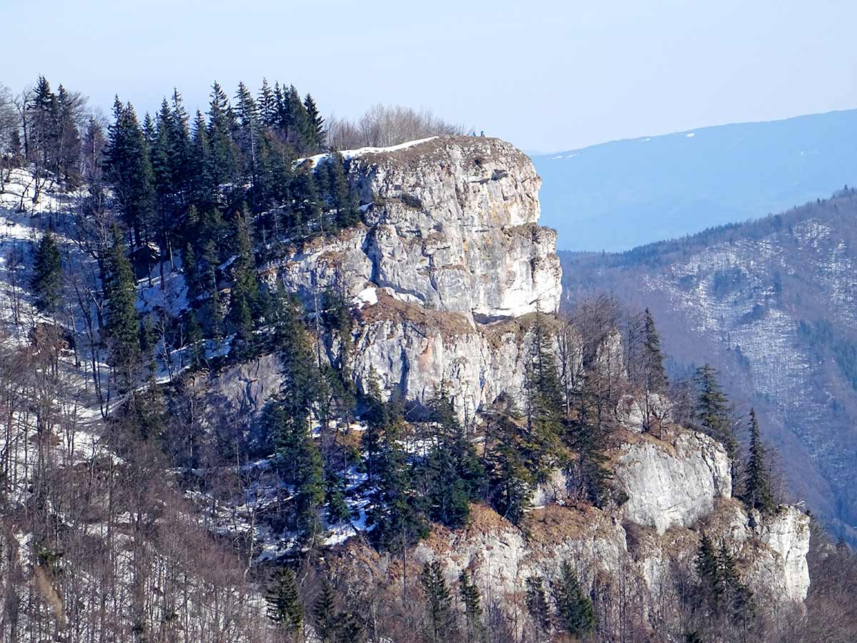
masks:
<instances>
[{"instance_id":1,"label":"lower band of pale rock outcrops with rusty grass, near the bottom","mask_svg":"<svg viewBox=\"0 0 857 643\"><path fill-rule=\"evenodd\" d=\"M630 495L623 506L560 506L540 490L534 500L547 504L530 512L524 529L476 507L465 529L435 528L416 546L413 574L437 559L452 585L467 569L483 595L512 613L523 601L524 580L535 574L549 583L562 562L571 562L593 595L624 592L618 599L624 607L602 604L608 610L603 627L622 622L623 610L635 610L640 624L655 632L664 627L662 605L679 604L680 586L696 582L694 560L705 532L733 553L759 605L800 610L809 587L805 514L787 506L771 516L748 512L730 497L728 458L707 436L674 428L664 441L630 433L626 438L629 442L614 454L615 476ZM686 489L674 491L680 487ZM339 571L361 580L366 574L388 574L383 560L376 559L378 568L368 564L373 556L354 543L339 553Z\"/></svg>"}]
</instances>

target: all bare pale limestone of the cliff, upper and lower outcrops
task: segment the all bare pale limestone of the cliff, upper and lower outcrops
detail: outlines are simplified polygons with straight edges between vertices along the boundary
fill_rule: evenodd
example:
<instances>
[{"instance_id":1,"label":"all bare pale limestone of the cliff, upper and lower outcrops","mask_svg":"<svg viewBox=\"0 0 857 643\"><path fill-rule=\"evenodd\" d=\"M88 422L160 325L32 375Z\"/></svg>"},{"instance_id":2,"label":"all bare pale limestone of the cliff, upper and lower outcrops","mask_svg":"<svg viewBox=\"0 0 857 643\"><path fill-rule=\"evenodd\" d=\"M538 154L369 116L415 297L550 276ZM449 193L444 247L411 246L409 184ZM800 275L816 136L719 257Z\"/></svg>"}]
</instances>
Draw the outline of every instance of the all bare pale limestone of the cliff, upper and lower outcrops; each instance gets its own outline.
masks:
<instances>
[{"instance_id":1,"label":"all bare pale limestone of the cliff, upper and lower outcrops","mask_svg":"<svg viewBox=\"0 0 857 643\"><path fill-rule=\"evenodd\" d=\"M384 394L418 405L443 384L468 421L500 394L521 400L537 311L553 313L560 296L554 233L537 225L539 179L529 159L503 141L441 137L351 155L348 177L361 195L363 221L291 249L266 267L267 278L297 292L310 310L322 289L345 288L351 375L363 391L375 376ZM541 321L559 329L552 315ZM323 334L319 341L333 362L341 339ZM586 362L626 386L620 334L605 334L587 360L582 341L570 344L566 372L579 374ZM279 369L277 356L265 356L211 378L204 415L251 428L279 389ZM470 526L436 528L411 562L438 557L451 581L468 568L486 595L511 610L528 575L550 579L568 560L593 592L632 587L628 600L654 628L659 604L692 578L706 532L733 551L758 597L800 603L809 584L809 519L786 506L770 516L748 512L732 497L726 450L674 424L671 413L663 396L619 396L609 453L614 500L604 508L573 504L557 471L535 490L523 529L477 507ZM651 418L657 437L643 432ZM393 564L361 538L335 556L355 583L365 574L383 583Z\"/></svg>"}]
</instances>

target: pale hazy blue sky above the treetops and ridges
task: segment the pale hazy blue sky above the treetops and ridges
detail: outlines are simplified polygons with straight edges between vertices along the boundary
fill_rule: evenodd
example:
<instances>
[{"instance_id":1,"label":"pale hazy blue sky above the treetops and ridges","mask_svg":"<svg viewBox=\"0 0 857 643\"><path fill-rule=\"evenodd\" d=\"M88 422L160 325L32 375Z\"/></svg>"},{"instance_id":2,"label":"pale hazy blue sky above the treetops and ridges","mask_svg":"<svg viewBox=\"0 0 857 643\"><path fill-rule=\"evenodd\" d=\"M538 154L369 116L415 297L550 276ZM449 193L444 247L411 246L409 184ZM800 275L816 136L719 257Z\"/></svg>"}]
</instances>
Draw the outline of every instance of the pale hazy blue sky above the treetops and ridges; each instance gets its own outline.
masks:
<instances>
[{"instance_id":1,"label":"pale hazy blue sky above the treetops and ridges","mask_svg":"<svg viewBox=\"0 0 857 643\"><path fill-rule=\"evenodd\" d=\"M267 76L327 113L425 106L554 151L857 106L854 0L0 0L0 25L0 81L105 111Z\"/></svg>"}]
</instances>

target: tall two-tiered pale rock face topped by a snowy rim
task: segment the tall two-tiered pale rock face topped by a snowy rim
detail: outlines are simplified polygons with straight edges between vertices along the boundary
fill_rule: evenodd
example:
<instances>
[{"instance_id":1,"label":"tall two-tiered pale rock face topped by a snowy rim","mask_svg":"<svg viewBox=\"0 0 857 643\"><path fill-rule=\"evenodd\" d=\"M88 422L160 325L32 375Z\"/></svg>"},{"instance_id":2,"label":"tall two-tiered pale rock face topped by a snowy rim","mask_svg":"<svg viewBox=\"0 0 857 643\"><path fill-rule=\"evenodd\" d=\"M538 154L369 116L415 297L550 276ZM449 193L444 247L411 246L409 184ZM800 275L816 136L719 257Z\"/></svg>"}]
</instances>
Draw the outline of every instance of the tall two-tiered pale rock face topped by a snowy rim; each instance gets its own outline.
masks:
<instances>
[{"instance_id":1,"label":"tall two-tiered pale rock face topped by a snowy rim","mask_svg":"<svg viewBox=\"0 0 857 643\"><path fill-rule=\"evenodd\" d=\"M464 420L518 394L528 334L503 320L554 313L561 292L530 159L473 136L345 157L363 222L291 249L267 279L309 309L318 292L344 288L360 308L353 365L363 391L375 374L386 396L423 403L444 382Z\"/></svg>"}]
</instances>

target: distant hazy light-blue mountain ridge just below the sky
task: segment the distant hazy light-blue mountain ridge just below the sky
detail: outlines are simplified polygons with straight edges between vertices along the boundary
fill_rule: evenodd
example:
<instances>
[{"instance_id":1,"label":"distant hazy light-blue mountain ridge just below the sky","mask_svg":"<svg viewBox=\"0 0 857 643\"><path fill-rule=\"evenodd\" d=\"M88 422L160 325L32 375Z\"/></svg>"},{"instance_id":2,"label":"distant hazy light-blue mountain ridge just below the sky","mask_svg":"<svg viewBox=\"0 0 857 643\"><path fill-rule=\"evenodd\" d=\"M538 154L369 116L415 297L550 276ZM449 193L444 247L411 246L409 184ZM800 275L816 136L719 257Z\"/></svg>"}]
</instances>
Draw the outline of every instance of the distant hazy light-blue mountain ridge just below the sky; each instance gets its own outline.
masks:
<instances>
[{"instance_id":1,"label":"distant hazy light-blue mountain ridge just below the sky","mask_svg":"<svg viewBox=\"0 0 857 643\"><path fill-rule=\"evenodd\" d=\"M611 141L532 157L566 250L621 251L756 219L857 183L857 110Z\"/></svg>"}]
</instances>

